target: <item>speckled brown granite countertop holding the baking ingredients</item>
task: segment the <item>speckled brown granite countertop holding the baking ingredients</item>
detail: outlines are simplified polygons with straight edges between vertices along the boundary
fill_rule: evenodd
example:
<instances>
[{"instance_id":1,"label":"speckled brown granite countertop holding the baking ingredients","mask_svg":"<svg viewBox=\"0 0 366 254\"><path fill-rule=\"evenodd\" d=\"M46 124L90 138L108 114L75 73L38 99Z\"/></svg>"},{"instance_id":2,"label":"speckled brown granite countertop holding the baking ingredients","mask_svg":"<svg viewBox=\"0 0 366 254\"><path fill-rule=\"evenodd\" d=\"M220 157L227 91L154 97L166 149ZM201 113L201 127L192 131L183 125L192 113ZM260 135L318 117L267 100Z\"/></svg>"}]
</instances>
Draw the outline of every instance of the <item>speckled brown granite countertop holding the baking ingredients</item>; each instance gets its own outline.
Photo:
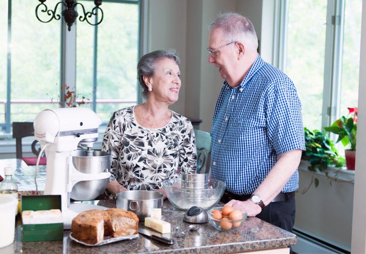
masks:
<instances>
[{"instance_id":1,"label":"speckled brown granite countertop holding the baking ingredients","mask_svg":"<svg viewBox=\"0 0 366 254\"><path fill-rule=\"evenodd\" d=\"M115 207L115 201L99 201L99 205ZM162 219L171 224L171 228L186 228L189 224L182 221L184 211L172 207L164 201ZM166 245L139 235L132 240L109 243L97 247L87 247L68 238L70 230L64 231L63 241L21 242L20 216L17 216L14 243L0 248L0 253L113 253L113 252L149 252L149 253L218 253L243 252L268 248L280 248L296 244L296 236L272 226L256 217L250 217L237 231L226 233L216 230L210 223L202 224L198 231L191 231L185 237L175 237L173 245Z\"/></svg>"}]
</instances>

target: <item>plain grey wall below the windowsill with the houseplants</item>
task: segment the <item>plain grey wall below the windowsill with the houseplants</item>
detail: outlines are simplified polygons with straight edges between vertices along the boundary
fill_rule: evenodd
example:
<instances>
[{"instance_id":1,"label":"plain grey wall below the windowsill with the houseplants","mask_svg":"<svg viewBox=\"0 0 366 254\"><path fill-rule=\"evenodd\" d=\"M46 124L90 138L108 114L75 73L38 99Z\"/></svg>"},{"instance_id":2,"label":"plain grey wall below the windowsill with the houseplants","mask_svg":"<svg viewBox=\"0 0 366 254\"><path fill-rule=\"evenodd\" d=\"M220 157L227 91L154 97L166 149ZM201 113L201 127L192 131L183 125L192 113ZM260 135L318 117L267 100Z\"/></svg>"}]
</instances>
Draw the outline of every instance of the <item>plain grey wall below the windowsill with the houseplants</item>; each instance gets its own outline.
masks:
<instances>
[{"instance_id":1,"label":"plain grey wall below the windowsill with the houseplants","mask_svg":"<svg viewBox=\"0 0 366 254\"><path fill-rule=\"evenodd\" d=\"M296 193L295 228L310 232L317 238L343 249L351 249L353 180L354 171L342 170L338 181L331 181L322 174L307 170L307 162L301 162L299 168L299 188ZM335 171L337 172L337 171ZM312 182L319 180L302 194Z\"/></svg>"}]
</instances>

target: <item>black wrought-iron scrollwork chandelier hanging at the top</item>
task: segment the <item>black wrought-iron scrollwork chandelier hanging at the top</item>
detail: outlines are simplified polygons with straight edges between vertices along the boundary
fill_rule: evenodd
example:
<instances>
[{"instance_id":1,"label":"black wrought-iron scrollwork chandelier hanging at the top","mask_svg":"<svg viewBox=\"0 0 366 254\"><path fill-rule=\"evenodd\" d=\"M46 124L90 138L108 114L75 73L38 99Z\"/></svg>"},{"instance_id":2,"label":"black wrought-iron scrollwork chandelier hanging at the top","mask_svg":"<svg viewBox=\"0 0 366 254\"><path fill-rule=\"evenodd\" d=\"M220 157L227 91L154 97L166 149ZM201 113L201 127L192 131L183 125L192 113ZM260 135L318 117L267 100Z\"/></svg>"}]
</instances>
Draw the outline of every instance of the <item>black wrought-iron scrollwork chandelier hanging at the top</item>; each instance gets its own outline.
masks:
<instances>
[{"instance_id":1,"label":"black wrought-iron scrollwork chandelier hanging at the top","mask_svg":"<svg viewBox=\"0 0 366 254\"><path fill-rule=\"evenodd\" d=\"M77 3L76 0L64 0L61 2L58 2L53 11L50 9L48 10L47 6L44 4L44 2L46 2L46 0L38 0L40 2L39 5L37 5L36 7L36 17L39 21L43 22L43 23L48 23L50 22L52 19L55 20L59 20L61 18L61 16L59 14L56 14L56 10L59 4L64 5L65 10L62 11L62 16L64 17L65 22L68 24L68 30L71 30L71 26L72 24L75 22L76 18L78 17L78 13L75 10L75 7L77 5L80 5L82 10L83 10L83 15L80 15L79 20L80 21L85 21L88 22L90 25L99 25L102 21L103 21L103 10L99 7L102 4L102 0L94 0L94 4L95 7L92 9L91 12L85 12L85 8L82 4ZM41 13L47 13L48 16L51 16L49 20L42 20L39 17L39 11ZM90 21L88 20L88 18L91 18L93 15L97 16L98 11L101 13L100 16L100 21L94 23L90 23ZM99 15L99 14L98 14Z\"/></svg>"}]
</instances>

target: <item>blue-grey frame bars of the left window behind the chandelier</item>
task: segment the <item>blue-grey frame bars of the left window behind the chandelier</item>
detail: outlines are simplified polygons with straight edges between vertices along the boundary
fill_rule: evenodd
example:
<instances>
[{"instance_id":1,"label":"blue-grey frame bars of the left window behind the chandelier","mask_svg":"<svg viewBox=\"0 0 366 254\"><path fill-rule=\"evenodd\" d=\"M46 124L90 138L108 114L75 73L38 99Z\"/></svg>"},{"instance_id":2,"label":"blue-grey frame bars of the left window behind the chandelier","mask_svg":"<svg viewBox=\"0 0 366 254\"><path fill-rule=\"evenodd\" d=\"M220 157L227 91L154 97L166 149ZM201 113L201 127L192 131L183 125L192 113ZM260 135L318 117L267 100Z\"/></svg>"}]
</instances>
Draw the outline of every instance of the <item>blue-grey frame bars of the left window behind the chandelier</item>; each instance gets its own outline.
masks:
<instances>
[{"instance_id":1,"label":"blue-grey frame bars of the left window behind the chandelier","mask_svg":"<svg viewBox=\"0 0 366 254\"><path fill-rule=\"evenodd\" d=\"M94 1L94 0L84 0L84 1ZM118 3L118 4L136 4L138 5L138 45L137 45L137 57L138 59L142 54L147 52L147 1L146 0L103 0L103 3ZM51 8L51 7L50 7ZM62 10L58 8L58 12L60 13ZM8 45L7 45L7 96L5 103L5 122L0 122L0 130L5 131L6 135L11 134L11 31L12 31L12 0L8 0ZM96 17L97 19L97 17ZM57 22L56 20L52 20L51 22ZM65 107L65 100L62 86L63 84L68 84L70 86L70 90L76 89L76 29L77 23L74 23L71 31L67 30L67 25L63 18L60 19L60 64L59 64L59 100L60 107ZM98 61L98 26L94 26L94 46L93 46L93 100L92 100L92 109L96 112L97 107L97 61ZM137 85L137 94L136 94L136 103L140 103L143 98L141 96L140 87L138 82ZM50 102L51 103L51 102Z\"/></svg>"}]
</instances>

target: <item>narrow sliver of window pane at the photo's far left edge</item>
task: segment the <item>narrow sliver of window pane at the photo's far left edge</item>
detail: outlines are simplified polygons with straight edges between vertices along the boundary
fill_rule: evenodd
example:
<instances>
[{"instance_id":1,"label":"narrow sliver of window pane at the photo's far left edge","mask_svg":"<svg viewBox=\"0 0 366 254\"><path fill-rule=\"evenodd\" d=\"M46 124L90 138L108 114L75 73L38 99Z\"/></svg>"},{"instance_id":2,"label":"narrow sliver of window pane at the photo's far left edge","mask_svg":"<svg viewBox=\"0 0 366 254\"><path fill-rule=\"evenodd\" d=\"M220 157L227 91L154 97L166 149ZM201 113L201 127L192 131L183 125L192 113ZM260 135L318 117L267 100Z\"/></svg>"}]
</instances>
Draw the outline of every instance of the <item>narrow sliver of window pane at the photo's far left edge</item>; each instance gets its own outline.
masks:
<instances>
[{"instance_id":1,"label":"narrow sliver of window pane at the photo's far left edge","mask_svg":"<svg viewBox=\"0 0 366 254\"><path fill-rule=\"evenodd\" d=\"M0 1L0 123L5 123L7 99L8 1ZM2 128L0 128L1 133Z\"/></svg>"}]
</instances>

